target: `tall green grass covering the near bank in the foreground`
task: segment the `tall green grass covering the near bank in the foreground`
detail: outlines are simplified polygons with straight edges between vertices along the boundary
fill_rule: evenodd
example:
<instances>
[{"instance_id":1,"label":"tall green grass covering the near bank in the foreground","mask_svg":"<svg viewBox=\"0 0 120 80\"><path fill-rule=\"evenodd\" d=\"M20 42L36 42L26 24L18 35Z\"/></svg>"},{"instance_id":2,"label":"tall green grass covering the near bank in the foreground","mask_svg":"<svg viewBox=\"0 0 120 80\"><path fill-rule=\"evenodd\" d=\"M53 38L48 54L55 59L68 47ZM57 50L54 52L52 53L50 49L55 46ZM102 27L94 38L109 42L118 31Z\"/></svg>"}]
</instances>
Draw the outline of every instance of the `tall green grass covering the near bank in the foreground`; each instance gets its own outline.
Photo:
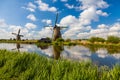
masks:
<instances>
[{"instance_id":1,"label":"tall green grass covering the near bank in the foreground","mask_svg":"<svg viewBox=\"0 0 120 80\"><path fill-rule=\"evenodd\" d=\"M90 62L0 50L0 80L120 80L120 65L98 68Z\"/></svg>"}]
</instances>

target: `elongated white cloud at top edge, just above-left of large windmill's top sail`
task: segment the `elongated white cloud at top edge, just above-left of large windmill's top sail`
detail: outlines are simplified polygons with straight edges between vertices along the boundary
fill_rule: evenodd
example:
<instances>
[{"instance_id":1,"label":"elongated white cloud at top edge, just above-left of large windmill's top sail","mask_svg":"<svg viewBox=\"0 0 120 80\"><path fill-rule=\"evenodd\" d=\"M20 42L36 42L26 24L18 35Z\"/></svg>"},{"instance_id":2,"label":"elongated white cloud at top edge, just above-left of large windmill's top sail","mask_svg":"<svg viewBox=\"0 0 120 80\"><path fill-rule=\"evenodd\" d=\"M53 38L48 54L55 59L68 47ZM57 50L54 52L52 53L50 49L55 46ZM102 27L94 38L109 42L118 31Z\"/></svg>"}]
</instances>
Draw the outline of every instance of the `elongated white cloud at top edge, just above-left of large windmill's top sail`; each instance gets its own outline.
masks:
<instances>
[{"instance_id":1,"label":"elongated white cloud at top edge, just above-left of large windmill's top sail","mask_svg":"<svg viewBox=\"0 0 120 80\"><path fill-rule=\"evenodd\" d=\"M37 0L36 3L38 4L38 8L41 11L50 11L56 12L56 7L50 7L49 4L42 2L42 0Z\"/></svg>"}]
</instances>

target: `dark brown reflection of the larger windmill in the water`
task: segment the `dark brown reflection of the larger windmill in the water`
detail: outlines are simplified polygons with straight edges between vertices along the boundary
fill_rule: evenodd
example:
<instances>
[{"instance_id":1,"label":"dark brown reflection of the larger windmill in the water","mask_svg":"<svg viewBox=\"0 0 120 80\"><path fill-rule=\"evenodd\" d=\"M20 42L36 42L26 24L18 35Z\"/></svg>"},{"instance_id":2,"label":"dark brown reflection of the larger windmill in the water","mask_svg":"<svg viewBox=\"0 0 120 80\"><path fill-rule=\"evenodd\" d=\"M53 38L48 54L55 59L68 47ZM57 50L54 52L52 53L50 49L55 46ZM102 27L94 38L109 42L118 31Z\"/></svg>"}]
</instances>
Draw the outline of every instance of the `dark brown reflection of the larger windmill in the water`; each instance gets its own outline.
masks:
<instances>
[{"instance_id":1,"label":"dark brown reflection of the larger windmill in the water","mask_svg":"<svg viewBox=\"0 0 120 80\"><path fill-rule=\"evenodd\" d=\"M53 45L53 55L54 59L58 60L60 58L61 52L64 50L64 46L62 45Z\"/></svg>"}]
</instances>

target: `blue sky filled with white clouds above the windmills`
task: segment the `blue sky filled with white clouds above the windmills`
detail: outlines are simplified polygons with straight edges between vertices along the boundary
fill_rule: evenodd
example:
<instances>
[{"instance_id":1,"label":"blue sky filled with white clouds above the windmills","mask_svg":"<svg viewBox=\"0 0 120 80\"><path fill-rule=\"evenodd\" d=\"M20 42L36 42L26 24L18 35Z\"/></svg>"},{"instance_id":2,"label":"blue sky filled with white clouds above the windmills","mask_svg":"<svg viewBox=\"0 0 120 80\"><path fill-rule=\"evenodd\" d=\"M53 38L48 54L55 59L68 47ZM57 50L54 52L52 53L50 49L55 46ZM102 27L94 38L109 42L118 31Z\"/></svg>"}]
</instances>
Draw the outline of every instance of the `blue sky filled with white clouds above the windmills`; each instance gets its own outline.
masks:
<instances>
[{"instance_id":1,"label":"blue sky filled with white clouds above the windmills","mask_svg":"<svg viewBox=\"0 0 120 80\"><path fill-rule=\"evenodd\" d=\"M56 13L64 39L120 37L120 0L0 0L0 39L52 37ZM51 26L51 27L45 27Z\"/></svg>"}]
</instances>

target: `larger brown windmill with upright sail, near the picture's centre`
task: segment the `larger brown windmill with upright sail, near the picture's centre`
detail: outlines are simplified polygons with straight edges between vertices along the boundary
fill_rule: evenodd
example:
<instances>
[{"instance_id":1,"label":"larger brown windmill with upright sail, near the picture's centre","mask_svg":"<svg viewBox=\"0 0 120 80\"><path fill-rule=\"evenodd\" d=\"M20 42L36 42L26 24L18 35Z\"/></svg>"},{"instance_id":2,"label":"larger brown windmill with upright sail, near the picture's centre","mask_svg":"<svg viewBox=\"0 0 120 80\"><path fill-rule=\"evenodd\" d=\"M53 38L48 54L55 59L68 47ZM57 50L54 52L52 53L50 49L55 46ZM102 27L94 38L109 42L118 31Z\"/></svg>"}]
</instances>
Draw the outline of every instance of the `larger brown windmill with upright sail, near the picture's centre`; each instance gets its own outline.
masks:
<instances>
[{"instance_id":1,"label":"larger brown windmill with upright sail, near the picture's centre","mask_svg":"<svg viewBox=\"0 0 120 80\"><path fill-rule=\"evenodd\" d=\"M56 14L55 24L54 24L54 26L52 26L53 27L53 29L52 29L53 30L52 40L53 41L56 41L58 38L62 38L60 30L62 28L67 28L67 27L63 27L63 26L58 26L57 21L58 21L58 13ZM48 27L51 27L51 26L48 26Z\"/></svg>"}]
</instances>

